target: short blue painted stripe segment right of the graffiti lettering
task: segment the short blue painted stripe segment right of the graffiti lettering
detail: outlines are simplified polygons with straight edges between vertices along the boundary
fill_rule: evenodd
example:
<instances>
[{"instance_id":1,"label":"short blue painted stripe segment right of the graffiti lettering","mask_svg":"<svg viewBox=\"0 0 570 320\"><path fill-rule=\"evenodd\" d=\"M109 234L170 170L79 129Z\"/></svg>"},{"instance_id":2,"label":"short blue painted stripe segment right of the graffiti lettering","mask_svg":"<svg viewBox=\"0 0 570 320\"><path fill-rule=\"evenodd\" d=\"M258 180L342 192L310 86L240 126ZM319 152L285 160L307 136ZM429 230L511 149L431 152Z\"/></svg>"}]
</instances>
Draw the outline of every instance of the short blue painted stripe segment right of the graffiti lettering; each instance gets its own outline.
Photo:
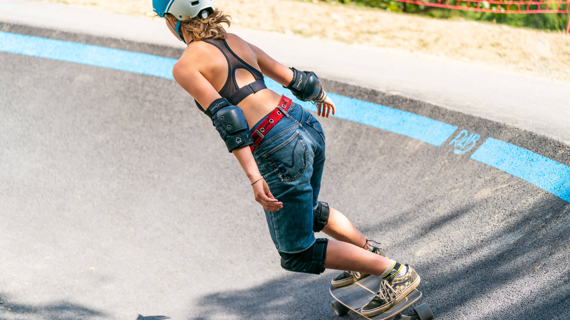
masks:
<instances>
[{"instance_id":1,"label":"short blue painted stripe segment right of the graffiti lettering","mask_svg":"<svg viewBox=\"0 0 570 320\"><path fill-rule=\"evenodd\" d=\"M570 167L511 143L487 138L471 159L519 177L570 202Z\"/></svg>"}]
</instances>

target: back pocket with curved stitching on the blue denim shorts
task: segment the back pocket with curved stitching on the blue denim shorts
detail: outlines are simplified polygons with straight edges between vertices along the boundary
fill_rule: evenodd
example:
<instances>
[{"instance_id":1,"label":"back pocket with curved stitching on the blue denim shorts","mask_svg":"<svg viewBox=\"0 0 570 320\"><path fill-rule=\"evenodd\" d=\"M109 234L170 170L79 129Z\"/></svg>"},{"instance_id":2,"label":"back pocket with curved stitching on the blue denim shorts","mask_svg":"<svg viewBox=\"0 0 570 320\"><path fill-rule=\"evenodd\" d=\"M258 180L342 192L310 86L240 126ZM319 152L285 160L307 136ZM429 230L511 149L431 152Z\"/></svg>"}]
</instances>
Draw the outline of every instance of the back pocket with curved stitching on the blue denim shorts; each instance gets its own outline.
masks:
<instances>
[{"instance_id":1,"label":"back pocket with curved stitching on the blue denim shorts","mask_svg":"<svg viewBox=\"0 0 570 320\"><path fill-rule=\"evenodd\" d=\"M310 163L307 144L299 130L295 131L287 141L264 154L263 158L283 182L299 178Z\"/></svg>"}]
</instances>

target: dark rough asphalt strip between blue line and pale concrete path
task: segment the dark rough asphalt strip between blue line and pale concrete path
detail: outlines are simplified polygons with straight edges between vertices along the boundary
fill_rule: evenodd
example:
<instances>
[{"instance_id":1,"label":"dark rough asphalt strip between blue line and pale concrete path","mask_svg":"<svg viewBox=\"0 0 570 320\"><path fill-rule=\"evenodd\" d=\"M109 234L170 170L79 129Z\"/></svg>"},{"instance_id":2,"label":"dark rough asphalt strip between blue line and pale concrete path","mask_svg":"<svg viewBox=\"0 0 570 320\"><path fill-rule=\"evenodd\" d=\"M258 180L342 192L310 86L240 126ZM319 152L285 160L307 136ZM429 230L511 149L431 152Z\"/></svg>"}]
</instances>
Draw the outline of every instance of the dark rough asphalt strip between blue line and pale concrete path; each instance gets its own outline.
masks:
<instances>
[{"instance_id":1,"label":"dark rough asphalt strip between blue line and pale concrete path","mask_svg":"<svg viewBox=\"0 0 570 320\"><path fill-rule=\"evenodd\" d=\"M132 40L115 39L105 36L87 35L6 22L0 22L0 31L92 44L94 46L165 56L166 58L172 59L180 58L182 52L184 52L181 48L161 46L159 44L141 43ZM443 106L412 99L403 95L394 95L381 92L376 89L364 88L358 85L330 80L325 77L321 77L320 79L328 92L390 106L392 108L446 122L448 124L458 126L459 130L466 129L469 132L480 134L480 142L482 142L484 138L494 137L496 139L524 147L525 149L544 155L544 157L553 159L565 165L570 165L570 145L554 138L530 132L528 130L519 129L515 126L504 124L503 122L484 119L471 114L450 110ZM339 106L339 108L341 107L342 106Z\"/></svg>"}]
</instances>

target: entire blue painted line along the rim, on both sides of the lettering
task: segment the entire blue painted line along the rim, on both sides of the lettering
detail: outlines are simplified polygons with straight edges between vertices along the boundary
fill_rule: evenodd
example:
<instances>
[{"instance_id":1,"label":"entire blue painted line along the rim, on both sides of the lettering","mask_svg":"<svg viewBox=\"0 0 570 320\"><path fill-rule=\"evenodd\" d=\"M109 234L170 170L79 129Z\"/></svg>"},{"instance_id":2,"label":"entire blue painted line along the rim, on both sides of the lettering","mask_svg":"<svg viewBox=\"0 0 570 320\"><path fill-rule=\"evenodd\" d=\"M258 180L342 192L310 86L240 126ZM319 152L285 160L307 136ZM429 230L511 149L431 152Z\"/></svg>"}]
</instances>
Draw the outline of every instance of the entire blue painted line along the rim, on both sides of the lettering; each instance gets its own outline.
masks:
<instances>
[{"instance_id":1,"label":"entire blue painted line along the rim, on both sides of the lettering","mask_svg":"<svg viewBox=\"0 0 570 320\"><path fill-rule=\"evenodd\" d=\"M165 79L173 79L172 67L176 63L176 59L161 56L2 31L0 51L95 65ZM266 84L275 92L291 96L287 89L271 79L266 78ZM339 106L335 115L339 118L402 134L434 146L441 146L457 130L457 126L418 114L333 93L330 95ZM296 102L307 109L316 110L312 104L299 100ZM568 166L494 138L488 138L471 158L522 178L570 202Z\"/></svg>"}]
</instances>

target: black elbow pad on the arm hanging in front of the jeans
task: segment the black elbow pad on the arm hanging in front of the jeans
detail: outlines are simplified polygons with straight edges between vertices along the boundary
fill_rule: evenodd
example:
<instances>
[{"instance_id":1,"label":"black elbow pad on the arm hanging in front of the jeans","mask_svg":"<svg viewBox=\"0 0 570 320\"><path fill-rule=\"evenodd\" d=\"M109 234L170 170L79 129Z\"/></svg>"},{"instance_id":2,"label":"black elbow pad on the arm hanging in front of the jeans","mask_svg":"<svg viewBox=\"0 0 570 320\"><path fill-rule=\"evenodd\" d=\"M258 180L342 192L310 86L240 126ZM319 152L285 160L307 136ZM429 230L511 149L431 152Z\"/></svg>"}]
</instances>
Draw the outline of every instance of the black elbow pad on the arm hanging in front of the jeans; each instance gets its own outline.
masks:
<instances>
[{"instance_id":1,"label":"black elbow pad on the arm hanging in front of the jeans","mask_svg":"<svg viewBox=\"0 0 570 320\"><path fill-rule=\"evenodd\" d=\"M228 151L253 145L246 117L239 106L224 98L214 100L204 113L212 120Z\"/></svg>"}]
</instances>

